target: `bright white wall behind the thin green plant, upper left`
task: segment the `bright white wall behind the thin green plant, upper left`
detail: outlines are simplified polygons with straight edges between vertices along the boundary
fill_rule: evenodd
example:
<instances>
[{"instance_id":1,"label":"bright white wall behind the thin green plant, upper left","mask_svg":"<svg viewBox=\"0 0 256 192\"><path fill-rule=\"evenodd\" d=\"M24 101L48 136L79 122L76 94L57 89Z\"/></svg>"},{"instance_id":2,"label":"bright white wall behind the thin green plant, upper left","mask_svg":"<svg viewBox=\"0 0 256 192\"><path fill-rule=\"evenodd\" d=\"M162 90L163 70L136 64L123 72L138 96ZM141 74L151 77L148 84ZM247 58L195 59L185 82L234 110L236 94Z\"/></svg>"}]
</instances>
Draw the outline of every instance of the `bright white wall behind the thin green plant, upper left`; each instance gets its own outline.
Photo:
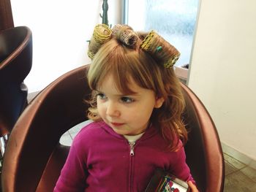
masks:
<instances>
[{"instance_id":1,"label":"bright white wall behind the thin green plant, upper left","mask_svg":"<svg viewBox=\"0 0 256 192\"><path fill-rule=\"evenodd\" d=\"M12 0L15 26L33 34L33 65L25 83L29 93L45 88L61 74L89 64L88 42L102 23L103 0ZM121 23L121 1L108 0L110 24Z\"/></svg>"}]
</instances>

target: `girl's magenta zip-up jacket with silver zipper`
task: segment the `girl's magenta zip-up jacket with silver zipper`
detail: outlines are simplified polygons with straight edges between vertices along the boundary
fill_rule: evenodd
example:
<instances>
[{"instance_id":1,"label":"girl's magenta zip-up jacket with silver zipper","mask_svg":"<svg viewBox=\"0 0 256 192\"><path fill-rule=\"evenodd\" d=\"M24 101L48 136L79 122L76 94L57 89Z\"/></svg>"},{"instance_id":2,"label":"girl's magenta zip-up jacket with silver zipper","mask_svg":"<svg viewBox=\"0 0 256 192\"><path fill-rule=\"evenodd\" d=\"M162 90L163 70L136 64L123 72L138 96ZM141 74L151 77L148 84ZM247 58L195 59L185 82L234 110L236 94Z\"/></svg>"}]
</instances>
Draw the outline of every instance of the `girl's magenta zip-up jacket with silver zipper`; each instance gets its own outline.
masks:
<instances>
[{"instance_id":1,"label":"girl's magenta zip-up jacket with silver zipper","mask_svg":"<svg viewBox=\"0 0 256 192\"><path fill-rule=\"evenodd\" d=\"M145 191L157 168L194 182L185 159L153 126L131 147L104 122L91 123L75 137L54 191Z\"/></svg>"}]
</instances>

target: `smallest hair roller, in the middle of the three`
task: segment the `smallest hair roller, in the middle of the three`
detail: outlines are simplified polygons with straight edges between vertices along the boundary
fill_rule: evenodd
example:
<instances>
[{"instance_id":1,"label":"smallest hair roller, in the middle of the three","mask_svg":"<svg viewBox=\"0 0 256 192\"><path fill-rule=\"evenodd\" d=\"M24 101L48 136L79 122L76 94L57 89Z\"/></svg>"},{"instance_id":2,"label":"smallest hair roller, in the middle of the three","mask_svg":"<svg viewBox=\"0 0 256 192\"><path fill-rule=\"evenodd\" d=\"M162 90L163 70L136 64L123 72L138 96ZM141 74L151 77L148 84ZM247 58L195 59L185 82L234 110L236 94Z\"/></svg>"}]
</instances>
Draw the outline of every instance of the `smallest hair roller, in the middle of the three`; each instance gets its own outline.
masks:
<instances>
[{"instance_id":1,"label":"smallest hair roller, in the middle of the three","mask_svg":"<svg viewBox=\"0 0 256 192\"><path fill-rule=\"evenodd\" d=\"M130 26L117 24L113 26L112 32L116 39L123 42L124 45L132 46L137 42L137 34L135 34Z\"/></svg>"}]
</instances>

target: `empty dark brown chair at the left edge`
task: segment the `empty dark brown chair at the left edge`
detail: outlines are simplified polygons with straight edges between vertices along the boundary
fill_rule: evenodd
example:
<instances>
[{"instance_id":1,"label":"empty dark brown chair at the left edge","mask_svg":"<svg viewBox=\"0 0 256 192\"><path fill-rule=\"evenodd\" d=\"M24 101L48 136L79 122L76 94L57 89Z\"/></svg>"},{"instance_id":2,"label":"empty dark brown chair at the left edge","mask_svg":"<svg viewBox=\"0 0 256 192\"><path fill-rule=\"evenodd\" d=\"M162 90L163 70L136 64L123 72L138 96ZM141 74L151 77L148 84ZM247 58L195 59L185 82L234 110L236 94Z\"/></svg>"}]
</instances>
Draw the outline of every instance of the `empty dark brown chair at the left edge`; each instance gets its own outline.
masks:
<instances>
[{"instance_id":1,"label":"empty dark brown chair at the left edge","mask_svg":"<svg viewBox=\"0 0 256 192\"><path fill-rule=\"evenodd\" d=\"M10 133L26 106L23 83L32 65L32 35L26 26L0 32L0 137Z\"/></svg>"}]
</instances>

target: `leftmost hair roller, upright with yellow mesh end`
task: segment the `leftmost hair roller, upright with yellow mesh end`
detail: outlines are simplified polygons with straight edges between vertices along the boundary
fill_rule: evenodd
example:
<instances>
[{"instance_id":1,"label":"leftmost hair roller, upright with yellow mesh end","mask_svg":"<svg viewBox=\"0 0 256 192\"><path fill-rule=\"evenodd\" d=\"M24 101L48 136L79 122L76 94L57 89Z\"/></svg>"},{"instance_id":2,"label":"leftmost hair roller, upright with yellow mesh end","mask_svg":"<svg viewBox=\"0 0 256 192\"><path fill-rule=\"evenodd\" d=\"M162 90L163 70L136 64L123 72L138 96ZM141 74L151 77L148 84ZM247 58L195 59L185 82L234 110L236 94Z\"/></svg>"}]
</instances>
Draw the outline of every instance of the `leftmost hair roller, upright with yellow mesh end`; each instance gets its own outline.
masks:
<instances>
[{"instance_id":1,"label":"leftmost hair roller, upright with yellow mesh end","mask_svg":"<svg viewBox=\"0 0 256 192\"><path fill-rule=\"evenodd\" d=\"M94 28L94 34L91 37L89 43L88 55L89 58L93 59L99 48L111 39L111 28L105 24L99 24Z\"/></svg>"}]
</instances>

